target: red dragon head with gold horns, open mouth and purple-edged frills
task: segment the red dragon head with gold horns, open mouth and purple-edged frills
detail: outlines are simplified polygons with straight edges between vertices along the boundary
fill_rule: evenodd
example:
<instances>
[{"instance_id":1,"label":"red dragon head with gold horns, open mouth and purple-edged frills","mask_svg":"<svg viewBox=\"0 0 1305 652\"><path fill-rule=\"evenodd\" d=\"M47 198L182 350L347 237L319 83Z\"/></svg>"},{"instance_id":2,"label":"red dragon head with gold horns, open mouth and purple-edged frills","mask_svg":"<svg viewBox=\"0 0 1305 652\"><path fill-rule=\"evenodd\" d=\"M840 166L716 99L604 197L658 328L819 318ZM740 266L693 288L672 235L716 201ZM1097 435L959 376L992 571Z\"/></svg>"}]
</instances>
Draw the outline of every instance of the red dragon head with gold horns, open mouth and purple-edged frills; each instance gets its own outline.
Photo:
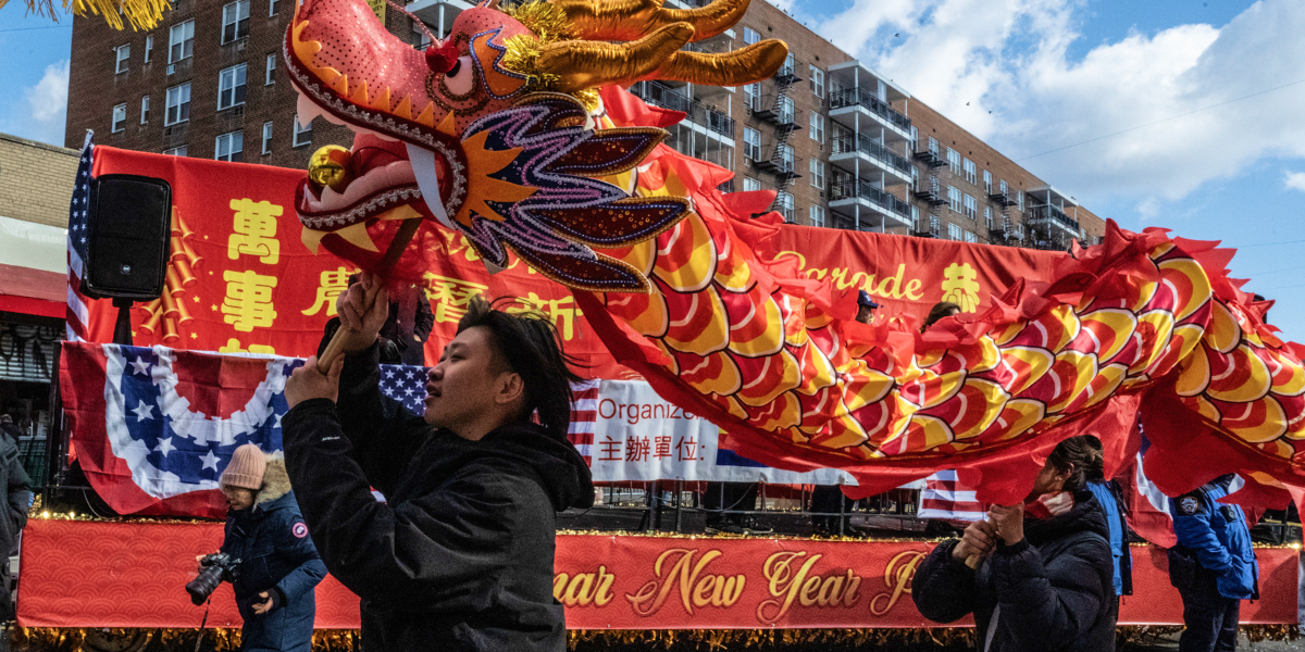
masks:
<instances>
[{"instance_id":1,"label":"red dragon head with gold horns, open mouth and purple-edged frills","mask_svg":"<svg viewBox=\"0 0 1305 652\"><path fill-rule=\"evenodd\" d=\"M746 8L535 0L500 10L492 0L419 51L364 0L305 0L284 40L299 120L320 116L355 133L351 150L320 150L299 188L305 244L384 267L377 243L420 216L466 235L491 270L506 266L512 249L573 288L646 291L642 273L592 248L654 237L689 205L600 180L637 166L666 133L595 129L596 89L655 78L733 86L774 74L787 56L782 42L724 55L680 50Z\"/></svg>"}]
</instances>

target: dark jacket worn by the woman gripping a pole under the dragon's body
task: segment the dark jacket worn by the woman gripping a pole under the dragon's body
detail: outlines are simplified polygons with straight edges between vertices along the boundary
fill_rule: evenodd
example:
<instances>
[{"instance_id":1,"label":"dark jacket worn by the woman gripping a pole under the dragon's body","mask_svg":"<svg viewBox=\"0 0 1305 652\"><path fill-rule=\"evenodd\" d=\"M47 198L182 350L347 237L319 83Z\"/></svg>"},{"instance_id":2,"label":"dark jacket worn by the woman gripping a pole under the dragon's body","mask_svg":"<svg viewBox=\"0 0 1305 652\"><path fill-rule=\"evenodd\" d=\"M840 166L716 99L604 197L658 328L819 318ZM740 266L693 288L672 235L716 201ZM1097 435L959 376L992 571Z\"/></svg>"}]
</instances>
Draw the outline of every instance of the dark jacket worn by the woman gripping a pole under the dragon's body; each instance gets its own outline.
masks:
<instances>
[{"instance_id":1,"label":"dark jacket worn by the woman gripping a pole under the dragon's body","mask_svg":"<svg viewBox=\"0 0 1305 652\"><path fill-rule=\"evenodd\" d=\"M979 570L951 558L957 541L938 545L916 571L911 597L934 622L974 613L979 649L1000 604L985 652L1109 652L1116 614L1108 536L1100 505L1079 492L1069 512L1024 520L1024 540L998 544Z\"/></svg>"}]
</instances>

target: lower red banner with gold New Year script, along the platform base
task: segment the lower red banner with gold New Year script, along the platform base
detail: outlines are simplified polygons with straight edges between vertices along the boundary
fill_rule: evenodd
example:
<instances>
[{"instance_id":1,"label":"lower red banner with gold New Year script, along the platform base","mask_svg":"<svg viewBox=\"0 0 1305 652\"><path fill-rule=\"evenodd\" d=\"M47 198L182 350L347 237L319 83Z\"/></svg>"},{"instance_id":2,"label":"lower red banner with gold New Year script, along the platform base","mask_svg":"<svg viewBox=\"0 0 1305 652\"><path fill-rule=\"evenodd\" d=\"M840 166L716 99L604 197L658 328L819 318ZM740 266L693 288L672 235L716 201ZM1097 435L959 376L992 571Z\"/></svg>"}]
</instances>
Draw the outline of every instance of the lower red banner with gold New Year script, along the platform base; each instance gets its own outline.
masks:
<instances>
[{"instance_id":1,"label":"lower red banner with gold New Year script, along the platform base","mask_svg":"<svg viewBox=\"0 0 1305 652\"><path fill-rule=\"evenodd\" d=\"M194 558L217 550L219 523L33 519L22 541L18 623L25 627L198 627L183 587ZM574 630L936 627L911 600L933 544L559 535L553 595ZM1261 548L1261 600L1244 623L1295 623L1298 552ZM1133 548L1135 595L1121 625L1181 625L1165 553ZM960 625L971 625L968 618ZM238 627L230 584L213 627ZM317 587L318 629L356 629L358 599L334 579Z\"/></svg>"}]
</instances>

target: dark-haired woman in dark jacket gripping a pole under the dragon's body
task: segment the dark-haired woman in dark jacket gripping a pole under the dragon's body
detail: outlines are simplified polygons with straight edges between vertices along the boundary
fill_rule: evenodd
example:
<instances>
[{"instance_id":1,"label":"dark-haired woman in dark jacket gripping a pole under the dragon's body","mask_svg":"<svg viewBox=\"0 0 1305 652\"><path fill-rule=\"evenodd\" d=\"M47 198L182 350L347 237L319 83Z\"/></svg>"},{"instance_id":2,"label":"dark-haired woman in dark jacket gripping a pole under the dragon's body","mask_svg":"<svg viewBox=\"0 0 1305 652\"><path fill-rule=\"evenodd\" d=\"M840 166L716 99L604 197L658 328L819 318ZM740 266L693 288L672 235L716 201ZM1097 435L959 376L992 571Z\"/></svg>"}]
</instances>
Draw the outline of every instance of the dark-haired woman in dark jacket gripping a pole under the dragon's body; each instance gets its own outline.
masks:
<instances>
[{"instance_id":1,"label":"dark-haired woman in dark jacket gripping a pole under the dragon's body","mask_svg":"<svg viewBox=\"0 0 1305 652\"><path fill-rule=\"evenodd\" d=\"M920 565L911 592L920 613L936 622L972 613L983 652L1113 651L1109 528L1087 490L1101 464L1094 438L1062 441L1023 505L992 506Z\"/></svg>"}]
</instances>

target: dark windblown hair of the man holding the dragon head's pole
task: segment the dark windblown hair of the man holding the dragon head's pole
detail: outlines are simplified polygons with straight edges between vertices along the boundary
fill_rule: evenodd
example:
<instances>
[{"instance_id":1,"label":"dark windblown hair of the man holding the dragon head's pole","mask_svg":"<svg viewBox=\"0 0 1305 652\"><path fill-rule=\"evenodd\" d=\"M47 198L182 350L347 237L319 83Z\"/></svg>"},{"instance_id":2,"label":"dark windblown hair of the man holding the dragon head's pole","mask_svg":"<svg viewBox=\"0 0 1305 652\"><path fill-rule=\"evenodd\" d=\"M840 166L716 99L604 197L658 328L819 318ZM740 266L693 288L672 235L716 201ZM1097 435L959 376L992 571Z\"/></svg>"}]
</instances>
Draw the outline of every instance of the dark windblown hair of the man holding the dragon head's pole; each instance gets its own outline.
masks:
<instances>
[{"instance_id":1,"label":"dark windblown hair of the man holding the dragon head's pole","mask_svg":"<svg viewBox=\"0 0 1305 652\"><path fill-rule=\"evenodd\" d=\"M458 333L475 327L491 333L495 370L521 376L526 386L522 419L538 412L539 425L555 439L565 441L570 428L572 383L583 378L570 370L569 365L579 365L562 351L553 322L538 313L505 313L475 297L458 321Z\"/></svg>"}]
</instances>

